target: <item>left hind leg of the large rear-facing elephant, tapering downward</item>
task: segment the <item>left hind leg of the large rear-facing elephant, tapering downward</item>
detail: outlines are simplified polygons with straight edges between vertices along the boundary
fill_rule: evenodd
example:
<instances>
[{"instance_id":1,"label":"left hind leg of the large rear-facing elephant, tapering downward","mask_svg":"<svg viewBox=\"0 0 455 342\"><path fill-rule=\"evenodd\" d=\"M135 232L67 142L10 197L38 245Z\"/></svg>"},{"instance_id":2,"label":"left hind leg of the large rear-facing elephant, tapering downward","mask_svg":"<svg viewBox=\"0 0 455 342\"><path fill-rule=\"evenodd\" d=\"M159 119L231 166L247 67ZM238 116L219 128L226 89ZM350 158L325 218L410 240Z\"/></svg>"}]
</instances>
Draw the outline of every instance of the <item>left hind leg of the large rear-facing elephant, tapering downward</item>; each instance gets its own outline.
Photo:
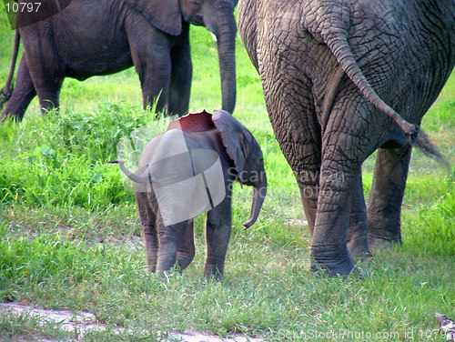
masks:
<instances>
[{"instance_id":1,"label":"left hind leg of the large rear-facing elephant, tapering downward","mask_svg":"<svg viewBox=\"0 0 455 342\"><path fill-rule=\"evenodd\" d=\"M268 113L281 151L296 177L312 236L318 207L321 129L311 83L307 78L301 83L288 82L287 77L273 74L278 69L268 72L264 88Z\"/></svg>"}]
</instances>

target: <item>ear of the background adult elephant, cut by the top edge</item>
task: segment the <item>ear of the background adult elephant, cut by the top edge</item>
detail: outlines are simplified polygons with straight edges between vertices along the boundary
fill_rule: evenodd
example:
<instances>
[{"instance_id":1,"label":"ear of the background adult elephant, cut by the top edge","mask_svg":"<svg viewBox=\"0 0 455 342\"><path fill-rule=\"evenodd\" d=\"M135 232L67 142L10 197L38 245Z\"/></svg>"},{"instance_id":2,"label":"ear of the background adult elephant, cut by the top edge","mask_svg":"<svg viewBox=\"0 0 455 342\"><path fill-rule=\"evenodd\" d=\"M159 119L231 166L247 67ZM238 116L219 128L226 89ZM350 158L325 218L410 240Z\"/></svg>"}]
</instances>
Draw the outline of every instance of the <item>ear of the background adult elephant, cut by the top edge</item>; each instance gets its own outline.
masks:
<instances>
[{"instance_id":1,"label":"ear of the background adult elephant, cut by the top edge","mask_svg":"<svg viewBox=\"0 0 455 342\"><path fill-rule=\"evenodd\" d=\"M182 13L178 0L125 0L147 20L168 35L182 32Z\"/></svg>"}]
</instances>

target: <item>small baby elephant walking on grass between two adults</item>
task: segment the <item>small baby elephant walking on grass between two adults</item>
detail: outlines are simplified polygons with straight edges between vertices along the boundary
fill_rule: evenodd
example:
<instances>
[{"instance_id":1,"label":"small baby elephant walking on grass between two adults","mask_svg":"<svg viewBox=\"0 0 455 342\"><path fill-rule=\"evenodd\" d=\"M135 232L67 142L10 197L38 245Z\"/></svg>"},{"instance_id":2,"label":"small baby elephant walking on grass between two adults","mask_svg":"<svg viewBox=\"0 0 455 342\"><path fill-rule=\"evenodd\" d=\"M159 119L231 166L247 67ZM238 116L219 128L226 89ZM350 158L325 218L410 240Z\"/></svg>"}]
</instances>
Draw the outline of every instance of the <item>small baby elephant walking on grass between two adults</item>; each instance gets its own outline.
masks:
<instances>
[{"instance_id":1,"label":"small baby elephant walking on grass between two adults","mask_svg":"<svg viewBox=\"0 0 455 342\"><path fill-rule=\"evenodd\" d=\"M206 111L175 120L152 139L136 174L116 161L136 182L144 227L148 269L185 269L195 256L193 218L207 211L205 277L223 277L231 232L231 194L235 180L254 186L247 222L253 225L267 193L264 159L248 129L225 111Z\"/></svg>"}]
</instances>

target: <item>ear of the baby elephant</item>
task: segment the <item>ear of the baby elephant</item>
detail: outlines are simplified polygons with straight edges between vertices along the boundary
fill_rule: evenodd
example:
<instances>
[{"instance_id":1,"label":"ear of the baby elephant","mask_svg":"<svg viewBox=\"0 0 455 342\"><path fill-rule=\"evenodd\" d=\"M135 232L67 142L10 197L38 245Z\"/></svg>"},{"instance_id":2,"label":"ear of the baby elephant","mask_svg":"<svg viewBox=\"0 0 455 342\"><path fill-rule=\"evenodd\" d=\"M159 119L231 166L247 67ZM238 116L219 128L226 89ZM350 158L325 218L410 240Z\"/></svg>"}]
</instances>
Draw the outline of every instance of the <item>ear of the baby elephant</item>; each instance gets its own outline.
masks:
<instances>
[{"instance_id":1,"label":"ear of the baby elephant","mask_svg":"<svg viewBox=\"0 0 455 342\"><path fill-rule=\"evenodd\" d=\"M245 162L253 142L248 129L238 119L224 110L216 110L212 115L213 123L221 133L227 155L234 161L238 174L245 171Z\"/></svg>"}]
</instances>

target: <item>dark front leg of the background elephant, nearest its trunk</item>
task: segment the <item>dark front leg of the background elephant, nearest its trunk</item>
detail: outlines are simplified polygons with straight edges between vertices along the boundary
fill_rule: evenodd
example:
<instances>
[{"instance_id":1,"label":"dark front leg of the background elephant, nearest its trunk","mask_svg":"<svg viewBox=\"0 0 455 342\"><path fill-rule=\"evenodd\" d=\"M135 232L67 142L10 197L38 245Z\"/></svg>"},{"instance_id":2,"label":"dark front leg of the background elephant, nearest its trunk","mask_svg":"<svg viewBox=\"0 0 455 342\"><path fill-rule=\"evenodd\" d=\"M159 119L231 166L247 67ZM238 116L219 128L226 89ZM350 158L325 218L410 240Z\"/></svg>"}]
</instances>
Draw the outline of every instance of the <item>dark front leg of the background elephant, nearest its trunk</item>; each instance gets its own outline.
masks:
<instances>
[{"instance_id":1,"label":"dark front leg of the background elephant, nearest its trunk","mask_svg":"<svg viewBox=\"0 0 455 342\"><path fill-rule=\"evenodd\" d=\"M174 47L171 52L172 71L167 102L169 115L183 116L187 114L189 107L193 66L189 38L185 36L182 39L182 44Z\"/></svg>"}]
</instances>

